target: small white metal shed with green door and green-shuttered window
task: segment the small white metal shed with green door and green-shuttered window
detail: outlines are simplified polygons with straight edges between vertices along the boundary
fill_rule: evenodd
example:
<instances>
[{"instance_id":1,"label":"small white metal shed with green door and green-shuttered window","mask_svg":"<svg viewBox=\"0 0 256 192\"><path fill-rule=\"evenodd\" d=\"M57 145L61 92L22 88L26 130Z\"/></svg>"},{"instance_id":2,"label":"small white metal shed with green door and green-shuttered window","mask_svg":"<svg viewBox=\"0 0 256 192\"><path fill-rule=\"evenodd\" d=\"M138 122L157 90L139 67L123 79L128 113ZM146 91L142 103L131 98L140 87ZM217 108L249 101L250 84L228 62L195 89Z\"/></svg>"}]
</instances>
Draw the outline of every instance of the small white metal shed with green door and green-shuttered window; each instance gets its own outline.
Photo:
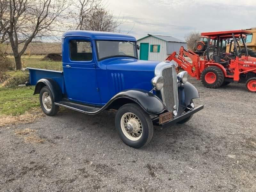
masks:
<instances>
[{"instance_id":1,"label":"small white metal shed with green door and green-shuttered window","mask_svg":"<svg viewBox=\"0 0 256 192\"><path fill-rule=\"evenodd\" d=\"M148 34L137 41L140 60L163 61L174 51L179 52L181 46L187 48L187 42L172 36Z\"/></svg>"}]
</instances>

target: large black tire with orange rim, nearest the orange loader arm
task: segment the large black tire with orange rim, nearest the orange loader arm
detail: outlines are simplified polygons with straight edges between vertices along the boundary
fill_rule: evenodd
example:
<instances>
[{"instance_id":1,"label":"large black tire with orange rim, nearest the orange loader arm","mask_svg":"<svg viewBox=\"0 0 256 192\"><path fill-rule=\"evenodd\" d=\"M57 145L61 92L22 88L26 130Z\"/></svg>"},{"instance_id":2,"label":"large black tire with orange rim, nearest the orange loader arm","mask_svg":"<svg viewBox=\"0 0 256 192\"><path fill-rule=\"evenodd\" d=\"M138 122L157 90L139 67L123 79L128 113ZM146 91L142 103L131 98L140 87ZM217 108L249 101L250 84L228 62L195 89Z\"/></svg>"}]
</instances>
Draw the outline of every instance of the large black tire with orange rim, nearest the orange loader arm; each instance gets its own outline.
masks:
<instances>
[{"instance_id":1,"label":"large black tire with orange rim, nearest the orange loader arm","mask_svg":"<svg viewBox=\"0 0 256 192\"><path fill-rule=\"evenodd\" d=\"M203 70L200 79L205 87L216 89L223 84L224 73L220 68L211 66Z\"/></svg>"}]
</instances>

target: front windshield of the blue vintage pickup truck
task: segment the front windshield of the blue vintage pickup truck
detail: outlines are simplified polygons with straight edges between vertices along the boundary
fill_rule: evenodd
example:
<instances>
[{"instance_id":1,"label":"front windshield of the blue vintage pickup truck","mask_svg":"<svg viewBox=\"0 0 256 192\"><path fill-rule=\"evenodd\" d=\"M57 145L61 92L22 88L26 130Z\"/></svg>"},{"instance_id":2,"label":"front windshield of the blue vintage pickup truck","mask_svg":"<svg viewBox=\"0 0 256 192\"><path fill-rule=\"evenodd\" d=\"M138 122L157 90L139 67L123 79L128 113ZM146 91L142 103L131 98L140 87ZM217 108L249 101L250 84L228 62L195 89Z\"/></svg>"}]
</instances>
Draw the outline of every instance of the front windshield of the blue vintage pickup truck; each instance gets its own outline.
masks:
<instances>
[{"instance_id":1,"label":"front windshield of the blue vintage pickup truck","mask_svg":"<svg viewBox=\"0 0 256 192\"><path fill-rule=\"evenodd\" d=\"M97 52L100 59L108 57L137 57L135 42L130 41L96 41Z\"/></svg>"}]
</instances>

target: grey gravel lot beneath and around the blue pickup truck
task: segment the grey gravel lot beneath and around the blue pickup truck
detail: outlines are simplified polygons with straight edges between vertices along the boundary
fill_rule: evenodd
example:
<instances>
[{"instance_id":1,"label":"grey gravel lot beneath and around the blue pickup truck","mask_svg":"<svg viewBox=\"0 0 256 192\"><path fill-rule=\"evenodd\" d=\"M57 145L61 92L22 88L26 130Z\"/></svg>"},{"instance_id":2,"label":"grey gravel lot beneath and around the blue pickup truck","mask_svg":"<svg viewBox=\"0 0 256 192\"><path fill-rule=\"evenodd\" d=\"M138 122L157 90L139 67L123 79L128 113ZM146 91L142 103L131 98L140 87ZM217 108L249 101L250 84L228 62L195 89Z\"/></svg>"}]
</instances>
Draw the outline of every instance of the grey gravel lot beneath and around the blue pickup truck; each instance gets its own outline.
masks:
<instances>
[{"instance_id":1,"label":"grey gravel lot beneath and around the blue pickup truck","mask_svg":"<svg viewBox=\"0 0 256 192\"><path fill-rule=\"evenodd\" d=\"M256 94L189 81L205 108L141 149L118 138L114 112L0 128L0 191L256 191Z\"/></svg>"}]
</instances>

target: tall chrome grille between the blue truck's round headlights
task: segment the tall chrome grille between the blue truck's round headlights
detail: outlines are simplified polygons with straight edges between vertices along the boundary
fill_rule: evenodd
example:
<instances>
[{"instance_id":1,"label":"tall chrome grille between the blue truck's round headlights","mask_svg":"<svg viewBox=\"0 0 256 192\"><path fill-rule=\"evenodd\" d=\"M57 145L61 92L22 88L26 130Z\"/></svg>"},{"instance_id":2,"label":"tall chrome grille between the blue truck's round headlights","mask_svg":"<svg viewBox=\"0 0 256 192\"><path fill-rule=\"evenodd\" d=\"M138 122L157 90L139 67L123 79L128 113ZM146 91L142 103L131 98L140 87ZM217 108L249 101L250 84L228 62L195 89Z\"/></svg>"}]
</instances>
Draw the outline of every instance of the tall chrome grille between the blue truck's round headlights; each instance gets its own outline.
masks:
<instances>
[{"instance_id":1,"label":"tall chrome grille between the blue truck's round headlights","mask_svg":"<svg viewBox=\"0 0 256 192\"><path fill-rule=\"evenodd\" d=\"M162 76L164 77L164 87L161 89L163 102L170 111L173 111L174 105L178 108L177 74L175 68L164 68Z\"/></svg>"}]
</instances>

